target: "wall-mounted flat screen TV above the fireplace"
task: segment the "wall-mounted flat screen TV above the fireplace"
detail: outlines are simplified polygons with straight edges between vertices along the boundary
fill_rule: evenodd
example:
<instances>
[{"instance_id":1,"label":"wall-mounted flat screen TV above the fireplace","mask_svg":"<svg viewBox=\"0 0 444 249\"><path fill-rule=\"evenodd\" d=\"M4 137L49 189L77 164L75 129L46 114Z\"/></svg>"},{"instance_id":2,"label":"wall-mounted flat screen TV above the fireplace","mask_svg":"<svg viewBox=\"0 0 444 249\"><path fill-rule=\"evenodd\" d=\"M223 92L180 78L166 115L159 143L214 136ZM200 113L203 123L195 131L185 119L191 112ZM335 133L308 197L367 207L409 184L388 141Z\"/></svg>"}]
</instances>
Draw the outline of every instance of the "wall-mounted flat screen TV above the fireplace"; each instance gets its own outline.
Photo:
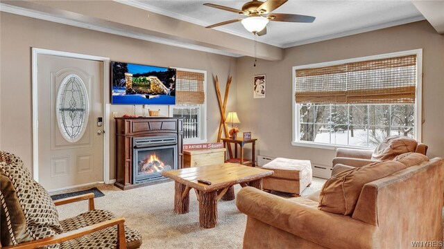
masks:
<instances>
[{"instance_id":1,"label":"wall-mounted flat screen TV above the fireplace","mask_svg":"<svg viewBox=\"0 0 444 249\"><path fill-rule=\"evenodd\" d=\"M112 104L176 104L176 69L111 62Z\"/></svg>"}]
</instances>

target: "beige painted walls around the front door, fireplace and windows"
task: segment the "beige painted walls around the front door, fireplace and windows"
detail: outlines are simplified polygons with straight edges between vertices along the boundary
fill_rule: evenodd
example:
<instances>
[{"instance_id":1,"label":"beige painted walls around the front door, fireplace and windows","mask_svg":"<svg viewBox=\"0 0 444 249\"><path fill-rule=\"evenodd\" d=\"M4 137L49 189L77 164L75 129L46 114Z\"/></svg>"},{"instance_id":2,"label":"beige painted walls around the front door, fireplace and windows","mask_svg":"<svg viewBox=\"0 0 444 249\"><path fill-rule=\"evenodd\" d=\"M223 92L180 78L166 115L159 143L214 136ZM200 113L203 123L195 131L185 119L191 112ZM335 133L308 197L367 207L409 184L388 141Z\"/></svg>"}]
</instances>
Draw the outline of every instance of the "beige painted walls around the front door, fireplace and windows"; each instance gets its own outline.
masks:
<instances>
[{"instance_id":1,"label":"beige painted walls around the front door, fireplace and windows","mask_svg":"<svg viewBox=\"0 0 444 249\"><path fill-rule=\"evenodd\" d=\"M257 154L309 159L315 165L330 165L333 150L291 145L291 69L293 66L329 62L402 50L423 49L422 142L429 156L444 156L442 120L444 107L444 36L427 21L287 48L279 62L232 58L195 50L165 46L109 35L83 28L54 24L1 12L0 15L0 149L21 156L32 169L31 48L110 57L112 60L178 66L206 70L207 138L216 140L219 127L212 77L218 75L221 89L233 75L228 111L237 110L242 131L258 138ZM253 75L266 74L266 98L253 99ZM111 106L110 111L130 113L130 107ZM113 123L111 123L113 124ZM110 133L114 125L110 127ZM114 137L111 148L114 151ZM114 178L114 154L110 156Z\"/></svg>"}]
</instances>

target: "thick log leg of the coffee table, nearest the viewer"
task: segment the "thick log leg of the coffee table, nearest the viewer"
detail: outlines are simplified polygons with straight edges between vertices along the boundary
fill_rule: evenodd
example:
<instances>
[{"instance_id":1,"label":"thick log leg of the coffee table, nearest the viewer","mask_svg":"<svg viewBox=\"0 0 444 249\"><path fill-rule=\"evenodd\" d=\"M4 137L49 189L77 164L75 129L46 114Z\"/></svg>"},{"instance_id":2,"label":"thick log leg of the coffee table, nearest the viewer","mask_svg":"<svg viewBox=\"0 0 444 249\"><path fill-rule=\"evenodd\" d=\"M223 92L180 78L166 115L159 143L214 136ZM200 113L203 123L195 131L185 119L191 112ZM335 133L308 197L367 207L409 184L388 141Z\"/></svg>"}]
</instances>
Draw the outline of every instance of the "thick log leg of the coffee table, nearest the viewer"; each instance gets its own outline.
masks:
<instances>
[{"instance_id":1,"label":"thick log leg of the coffee table, nearest the viewer","mask_svg":"<svg viewBox=\"0 0 444 249\"><path fill-rule=\"evenodd\" d=\"M199 191L200 228L214 228L217 224L217 191Z\"/></svg>"}]
</instances>

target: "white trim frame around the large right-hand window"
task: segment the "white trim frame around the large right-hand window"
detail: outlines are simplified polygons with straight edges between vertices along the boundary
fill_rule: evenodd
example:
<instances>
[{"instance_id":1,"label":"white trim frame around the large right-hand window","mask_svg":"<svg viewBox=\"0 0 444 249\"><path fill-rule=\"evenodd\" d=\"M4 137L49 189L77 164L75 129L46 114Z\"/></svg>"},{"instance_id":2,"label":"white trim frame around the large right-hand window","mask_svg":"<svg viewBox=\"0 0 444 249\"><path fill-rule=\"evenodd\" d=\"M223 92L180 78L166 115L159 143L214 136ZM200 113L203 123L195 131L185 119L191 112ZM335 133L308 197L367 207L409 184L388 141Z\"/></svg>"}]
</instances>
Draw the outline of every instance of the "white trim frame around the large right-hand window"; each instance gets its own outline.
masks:
<instances>
[{"instance_id":1,"label":"white trim frame around the large right-hand window","mask_svg":"<svg viewBox=\"0 0 444 249\"><path fill-rule=\"evenodd\" d=\"M292 76L293 76L293 84L292 84L292 138L291 145L300 146L300 147L313 147L320 149L336 149L336 148L359 148L365 149L365 147L354 147L348 145L328 145L318 142L308 142L308 141L300 141L299 140L299 130L300 130L300 112L299 104L296 104L296 70L312 68L312 67L322 67L322 66L334 66L338 64L345 64L350 62L361 62L365 60L373 60L373 59L386 59L390 57L401 57L406 55L416 55L416 97L415 97L415 122L414 122L414 138L418 141L422 141L422 48L400 51L395 53L386 53L381 55L370 55L366 57L357 57L352 59L341 59L332 62L321 62L315 64L307 64L302 66L293 66Z\"/></svg>"}]
</instances>

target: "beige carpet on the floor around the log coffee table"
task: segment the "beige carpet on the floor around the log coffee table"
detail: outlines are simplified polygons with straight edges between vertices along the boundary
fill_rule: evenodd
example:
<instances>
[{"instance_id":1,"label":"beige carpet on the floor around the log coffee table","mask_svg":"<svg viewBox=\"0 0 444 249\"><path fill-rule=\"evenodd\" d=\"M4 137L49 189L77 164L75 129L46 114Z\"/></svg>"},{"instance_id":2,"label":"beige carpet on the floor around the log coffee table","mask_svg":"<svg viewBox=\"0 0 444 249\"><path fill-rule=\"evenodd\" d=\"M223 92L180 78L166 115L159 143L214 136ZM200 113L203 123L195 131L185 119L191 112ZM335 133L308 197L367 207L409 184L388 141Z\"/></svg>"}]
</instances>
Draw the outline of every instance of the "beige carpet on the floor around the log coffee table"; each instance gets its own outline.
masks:
<instances>
[{"instance_id":1,"label":"beige carpet on the floor around the log coffee table","mask_svg":"<svg viewBox=\"0 0 444 249\"><path fill-rule=\"evenodd\" d=\"M302 196L320 190L325 179L314 178ZM237 210L235 201L219 201L218 225L203 229L198 224L196 194L190 192L188 214L173 212L174 183L161 183L134 190L119 190L112 185L98 185L105 196L95 199L96 209L110 210L124 216L126 225L142 234L142 248L242 248L246 215ZM235 192L240 186L235 186ZM281 193L275 193L281 194ZM285 194L282 194L285 196ZM60 219L87 211L86 201L58 207Z\"/></svg>"}]
</instances>

